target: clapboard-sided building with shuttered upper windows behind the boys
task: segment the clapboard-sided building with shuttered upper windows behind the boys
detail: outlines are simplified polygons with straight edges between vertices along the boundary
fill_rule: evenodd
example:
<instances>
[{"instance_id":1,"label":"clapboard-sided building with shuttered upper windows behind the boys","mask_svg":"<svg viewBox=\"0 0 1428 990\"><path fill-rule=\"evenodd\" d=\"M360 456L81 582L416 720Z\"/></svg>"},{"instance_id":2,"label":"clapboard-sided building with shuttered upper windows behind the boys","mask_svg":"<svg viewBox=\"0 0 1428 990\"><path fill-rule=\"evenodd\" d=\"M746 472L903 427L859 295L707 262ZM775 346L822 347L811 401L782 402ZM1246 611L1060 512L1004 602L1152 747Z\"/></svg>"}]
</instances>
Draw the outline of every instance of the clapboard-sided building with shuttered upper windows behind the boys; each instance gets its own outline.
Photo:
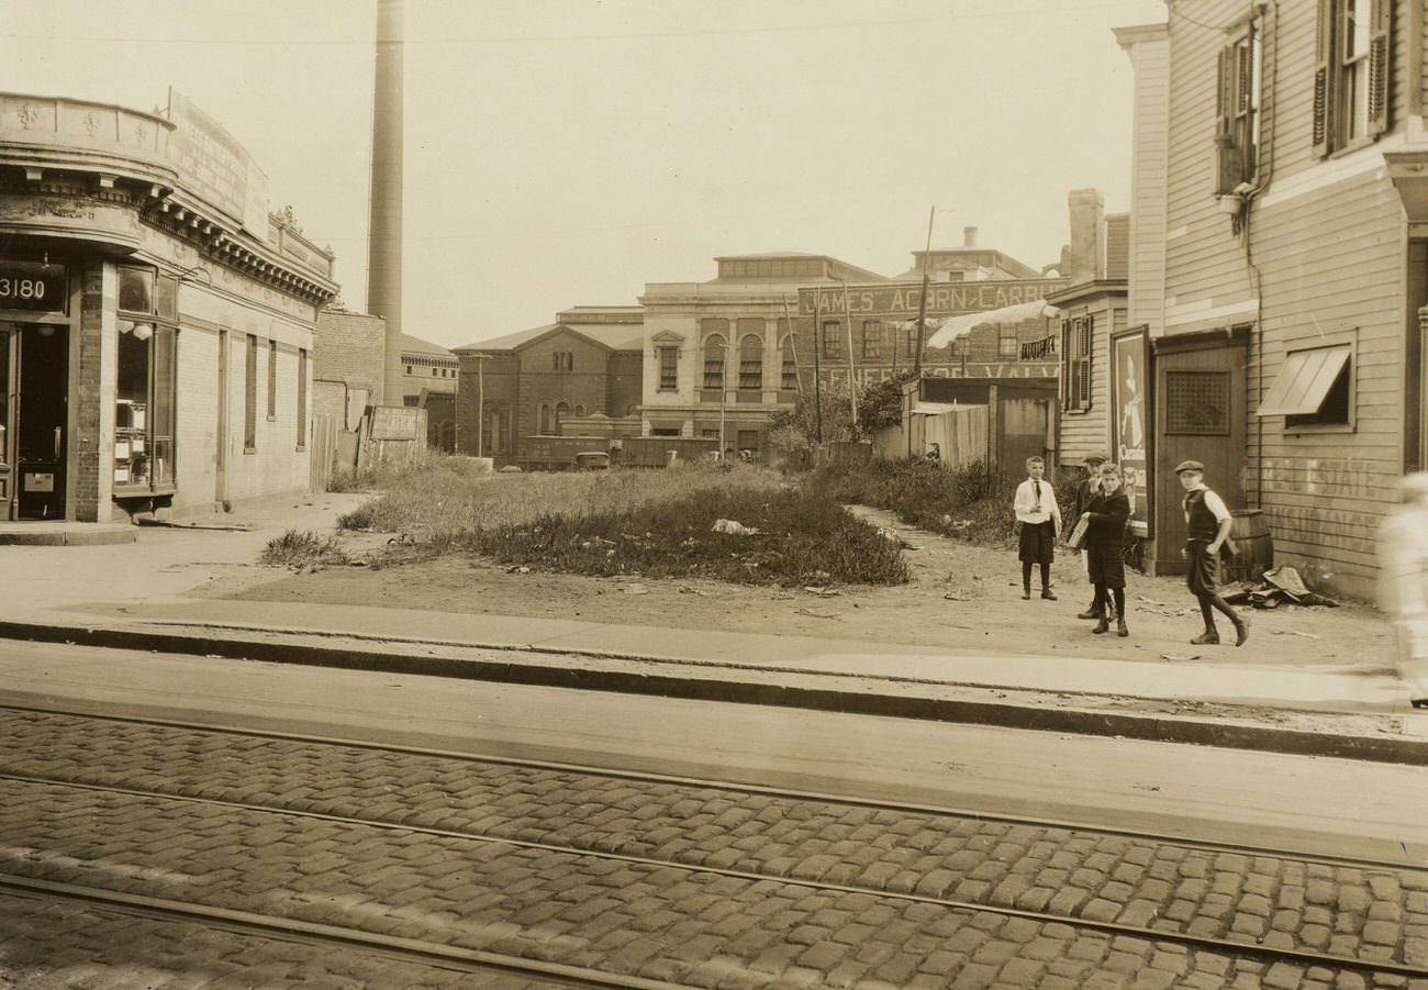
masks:
<instances>
[{"instance_id":1,"label":"clapboard-sided building with shuttered upper windows behind the boys","mask_svg":"<svg viewBox=\"0 0 1428 990\"><path fill-rule=\"evenodd\" d=\"M1117 33L1158 570L1182 569L1171 470L1194 459L1259 510L1277 563L1374 593L1398 479L1428 463L1425 7L1205 0Z\"/></svg>"}]
</instances>

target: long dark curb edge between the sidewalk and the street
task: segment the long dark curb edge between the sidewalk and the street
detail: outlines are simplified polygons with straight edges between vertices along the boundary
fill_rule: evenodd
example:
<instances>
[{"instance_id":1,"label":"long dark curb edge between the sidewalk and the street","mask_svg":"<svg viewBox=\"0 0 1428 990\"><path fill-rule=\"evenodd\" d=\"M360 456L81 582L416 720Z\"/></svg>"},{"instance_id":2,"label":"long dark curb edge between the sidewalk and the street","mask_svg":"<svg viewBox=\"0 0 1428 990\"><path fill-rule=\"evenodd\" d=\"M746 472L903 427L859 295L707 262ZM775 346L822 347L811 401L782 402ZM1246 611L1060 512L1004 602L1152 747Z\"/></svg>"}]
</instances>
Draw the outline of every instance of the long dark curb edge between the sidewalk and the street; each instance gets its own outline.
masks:
<instances>
[{"instance_id":1,"label":"long dark curb edge between the sidewalk and the street","mask_svg":"<svg viewBox=\"0 0 1428 990\"><path fill-rule=\"evenodd\" d=\"M157 650L186 656L220 656L230 660L260 660L306 667L483 680L528 687L564 687L584 691L674 697L691 701L761 704L998 729L1072 733L1080 736L1215 746L1221 749L1258 750L1294 756L1324 756L1341 760L1428 766L1428 739L1344 736L1227 721L1195 721L1185 717L1074 709L1037 709L964 699L907 697L877 691L844 691L767 684L733 677L707 680L621 670L571 670L554 663L503 663L483 659L423 657L396 651L221 639L103 626L0 621L0 639L36 643L73 643L76 646L120 650ZM508 646L477 643L467 646L470 649L514 650L514 647ZM543 653L541 650L531 650L528 647L521 651ZM658 663L658 657L625 659Z\"/></svg>"}]
</instances>

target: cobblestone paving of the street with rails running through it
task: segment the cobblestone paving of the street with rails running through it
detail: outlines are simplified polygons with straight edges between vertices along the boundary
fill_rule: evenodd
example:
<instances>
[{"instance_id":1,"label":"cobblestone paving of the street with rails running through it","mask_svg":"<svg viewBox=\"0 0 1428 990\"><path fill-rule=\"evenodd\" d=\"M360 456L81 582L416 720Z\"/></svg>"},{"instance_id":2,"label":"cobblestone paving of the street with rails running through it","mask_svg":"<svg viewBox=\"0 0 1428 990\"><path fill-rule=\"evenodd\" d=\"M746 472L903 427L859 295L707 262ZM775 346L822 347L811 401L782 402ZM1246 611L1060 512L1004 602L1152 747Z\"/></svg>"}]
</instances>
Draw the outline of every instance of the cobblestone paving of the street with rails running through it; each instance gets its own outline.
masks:
<instances>
[{"instance_id":1,"label":"cobblestone paving of the street with rails running through it","mask_svg":"<svg viewBox=\"0 0 1428 990\"><path fill-rule=\"evenodd\" d=\"M1382 864L9 710L0 771L9 877L681 986L1428 987L1428 876ZM36 944L21 917L6 946ZM226 986L206 946L244 950L187 927L43 940ZM286 953L263 986L326 966ZM443 986L373 964L363 986Z\"/></svg>"}]
</instances>

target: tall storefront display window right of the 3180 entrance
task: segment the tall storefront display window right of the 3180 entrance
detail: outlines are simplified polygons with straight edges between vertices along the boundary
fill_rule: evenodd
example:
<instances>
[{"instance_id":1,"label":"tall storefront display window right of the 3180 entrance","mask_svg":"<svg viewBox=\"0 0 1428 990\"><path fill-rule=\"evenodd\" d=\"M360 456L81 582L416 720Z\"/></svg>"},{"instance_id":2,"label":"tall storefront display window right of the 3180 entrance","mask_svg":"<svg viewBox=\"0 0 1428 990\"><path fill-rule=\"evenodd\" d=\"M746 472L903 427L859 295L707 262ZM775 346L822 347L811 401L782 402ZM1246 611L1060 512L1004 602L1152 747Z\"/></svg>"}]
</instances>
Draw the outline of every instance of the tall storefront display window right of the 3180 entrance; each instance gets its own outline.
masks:
<instances>
[{"instance_id":1,"label":"tall storefront display window right of the 3180 entrance","mask_svg":"<svg viewBox=\"0 0 1428 990\"><path fill-rule=\"evenodd\" d=\"M119 269L114 494L174 487L178 280Z\"/></svg>"}]
</instances>

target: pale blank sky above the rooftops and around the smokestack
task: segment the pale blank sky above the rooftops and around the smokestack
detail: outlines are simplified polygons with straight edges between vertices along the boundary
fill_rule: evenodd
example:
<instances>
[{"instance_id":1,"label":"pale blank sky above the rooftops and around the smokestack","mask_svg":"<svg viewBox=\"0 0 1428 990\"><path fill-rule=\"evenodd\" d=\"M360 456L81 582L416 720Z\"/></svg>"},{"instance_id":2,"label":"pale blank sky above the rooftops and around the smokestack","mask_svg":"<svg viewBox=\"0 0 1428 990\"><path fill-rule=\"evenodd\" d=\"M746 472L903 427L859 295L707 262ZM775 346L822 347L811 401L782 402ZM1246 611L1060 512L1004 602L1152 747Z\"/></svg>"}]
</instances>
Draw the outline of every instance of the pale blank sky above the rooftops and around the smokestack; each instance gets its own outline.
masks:
<instances>
[{"instance_id":1,"label":"pale blank sky above the rooftops and around the smokestack","mask_svg":"<svg viewBox=\"0 0 1428 990\"><path fill-rule=\"evenodd\" d=\"M1067 193L1130 207L1161 0L407 0L403 330L457 347L713 279L714 257L932 247L1041 267ZM3 0L0 86L187 96L366 307L376 0Z\"/></svg>"}]
</instances>

